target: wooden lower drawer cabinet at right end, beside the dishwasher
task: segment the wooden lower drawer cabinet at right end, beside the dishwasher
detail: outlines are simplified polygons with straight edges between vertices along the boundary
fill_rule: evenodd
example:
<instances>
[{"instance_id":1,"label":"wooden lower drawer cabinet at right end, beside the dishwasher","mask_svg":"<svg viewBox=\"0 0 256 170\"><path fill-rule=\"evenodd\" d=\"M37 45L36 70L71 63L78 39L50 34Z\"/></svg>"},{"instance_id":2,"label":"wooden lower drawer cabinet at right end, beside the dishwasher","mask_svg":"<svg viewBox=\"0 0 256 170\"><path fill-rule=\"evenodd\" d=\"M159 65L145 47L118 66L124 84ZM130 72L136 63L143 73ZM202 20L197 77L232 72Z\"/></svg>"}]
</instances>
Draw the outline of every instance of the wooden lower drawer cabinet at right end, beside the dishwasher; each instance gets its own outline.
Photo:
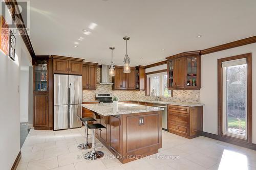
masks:
<instances>
[{"instance_id":1,"label":"wooden lower drawer cabinet at right end, beside the dishwasher","mask_svg":"<svg viewBox=\"0 0 256 170\"><path fill-rule=\"evenodd\" d=\"M168 130L189 139L200 136L203 131L203 106L168 105Z\"/></svg>"}]
</instances>

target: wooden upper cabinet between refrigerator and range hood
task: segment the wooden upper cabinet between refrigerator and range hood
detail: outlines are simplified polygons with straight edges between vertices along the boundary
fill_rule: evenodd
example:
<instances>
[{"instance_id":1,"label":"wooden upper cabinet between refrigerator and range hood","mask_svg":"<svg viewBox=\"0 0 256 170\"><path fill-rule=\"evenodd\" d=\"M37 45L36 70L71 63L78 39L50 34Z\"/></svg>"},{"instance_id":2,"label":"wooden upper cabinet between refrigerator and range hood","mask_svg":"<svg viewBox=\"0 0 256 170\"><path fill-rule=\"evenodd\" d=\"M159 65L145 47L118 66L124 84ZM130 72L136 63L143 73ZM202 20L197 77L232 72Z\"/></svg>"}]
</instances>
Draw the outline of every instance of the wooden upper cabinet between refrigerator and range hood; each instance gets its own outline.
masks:
<instances>
[{"instance_id":1,"label":"wooden upper cabinet between refrigerator and range hood","mask_svg":"<svg viewBox=\"0 0 256 170\"><path fill-rule=\"evenodd\" d=\"M97 65L83 64L82 66L82 88L96 89Z\"/></svg>"}]
</instances>

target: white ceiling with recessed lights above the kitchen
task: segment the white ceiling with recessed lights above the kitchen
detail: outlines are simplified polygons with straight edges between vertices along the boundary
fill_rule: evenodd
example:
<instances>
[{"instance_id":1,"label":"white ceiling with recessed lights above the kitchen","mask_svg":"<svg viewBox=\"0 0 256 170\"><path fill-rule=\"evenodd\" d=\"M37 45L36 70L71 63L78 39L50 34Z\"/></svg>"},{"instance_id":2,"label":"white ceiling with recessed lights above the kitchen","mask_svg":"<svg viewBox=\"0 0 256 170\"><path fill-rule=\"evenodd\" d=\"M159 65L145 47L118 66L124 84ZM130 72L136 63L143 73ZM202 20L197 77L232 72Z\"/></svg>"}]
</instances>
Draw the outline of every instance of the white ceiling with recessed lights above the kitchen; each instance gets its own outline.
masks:
<instances>
[{"instance_id":1,"label":"white ceiling with recessed lights above the kitchen","mask_svg":"<svg viewBox=\"0 0 256 170\"><path fill-rule=\"evenodd\" d=\"M256 35L255 0L31 0L30 5L36 55L72 55L100 64L110 63L109 47L115 46L114 63L122 65L123 36L131 37L128 54L136 66ZM93 30L91 23L97 24Z\"/></svg>"}]
</instances>

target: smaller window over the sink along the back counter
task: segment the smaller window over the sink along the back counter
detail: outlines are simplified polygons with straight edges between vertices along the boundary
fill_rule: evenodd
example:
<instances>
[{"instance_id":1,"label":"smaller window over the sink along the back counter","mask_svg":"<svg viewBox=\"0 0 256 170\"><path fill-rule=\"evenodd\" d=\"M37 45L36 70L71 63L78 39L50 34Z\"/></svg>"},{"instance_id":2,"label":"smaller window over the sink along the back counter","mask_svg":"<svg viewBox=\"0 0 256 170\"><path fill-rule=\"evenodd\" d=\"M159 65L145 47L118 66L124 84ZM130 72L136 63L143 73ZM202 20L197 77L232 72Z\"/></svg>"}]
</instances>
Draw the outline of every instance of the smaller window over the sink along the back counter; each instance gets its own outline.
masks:
<instances>
[{"instance_id":1,"label":"smaller window over the sink along the back counter","mask_svg":"<svg viewBox=\"0 0 256 170\"><path fill-rule=\"evenodd\" d=\"M150 78L150 94L155 89L157 96L168 96L166 72L147 75L147 78Z\"/></svg>"}]
</instances>

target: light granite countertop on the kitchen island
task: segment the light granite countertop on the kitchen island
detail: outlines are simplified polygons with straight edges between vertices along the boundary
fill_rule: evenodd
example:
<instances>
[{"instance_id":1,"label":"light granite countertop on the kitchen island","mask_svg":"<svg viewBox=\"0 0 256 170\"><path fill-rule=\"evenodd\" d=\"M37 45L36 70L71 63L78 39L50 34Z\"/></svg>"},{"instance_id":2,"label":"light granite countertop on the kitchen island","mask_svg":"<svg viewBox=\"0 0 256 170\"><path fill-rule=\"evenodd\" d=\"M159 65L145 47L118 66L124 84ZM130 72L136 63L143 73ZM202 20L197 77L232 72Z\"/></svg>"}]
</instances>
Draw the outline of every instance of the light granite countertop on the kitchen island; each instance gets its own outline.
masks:
<instances>
[{"instance_id":1,"label":"light granite countertop on the kitchen island","mask_svg":"<svg viewBox=\"0 0 256 170\"><path fill-rule=\"evenodd\" d=\"M163 108L143 106L136 104L129 104L119 102L118 106L114 106L113 103L96 103L96 104L82 104L82 107L92 110L102 116L120 115L120 114L131 114L131 113L143 113L161 111Z\"/></svg>"}]
</instances>

